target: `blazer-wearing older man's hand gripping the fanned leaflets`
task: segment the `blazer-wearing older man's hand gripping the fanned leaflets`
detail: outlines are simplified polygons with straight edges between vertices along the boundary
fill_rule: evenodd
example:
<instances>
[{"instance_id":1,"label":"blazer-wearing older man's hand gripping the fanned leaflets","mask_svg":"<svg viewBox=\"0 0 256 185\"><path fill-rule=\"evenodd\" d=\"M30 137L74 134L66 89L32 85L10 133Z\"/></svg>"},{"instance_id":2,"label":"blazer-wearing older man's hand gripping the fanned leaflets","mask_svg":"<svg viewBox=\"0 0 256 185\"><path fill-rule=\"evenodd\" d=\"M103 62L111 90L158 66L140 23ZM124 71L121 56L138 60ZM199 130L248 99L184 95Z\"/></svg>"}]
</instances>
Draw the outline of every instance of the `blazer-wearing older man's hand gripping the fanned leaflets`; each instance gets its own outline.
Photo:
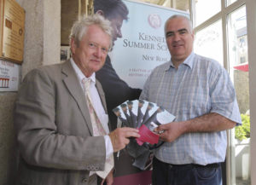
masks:
<instances>
[{"instance_id":1,"label":"blazer-wearing older man's hand gripping the fanned leaflets","mask_svg":"<svg viewBox=\"0 0 256 185\"><path fill-rule=\"evenodd\" d=\"M125 146L130 142L128 137L140 137L137 129L123 127L113 130L108 134L113 145L113 152L118 152L119 150L125 148Z\"/></svg>"}]
</instances>

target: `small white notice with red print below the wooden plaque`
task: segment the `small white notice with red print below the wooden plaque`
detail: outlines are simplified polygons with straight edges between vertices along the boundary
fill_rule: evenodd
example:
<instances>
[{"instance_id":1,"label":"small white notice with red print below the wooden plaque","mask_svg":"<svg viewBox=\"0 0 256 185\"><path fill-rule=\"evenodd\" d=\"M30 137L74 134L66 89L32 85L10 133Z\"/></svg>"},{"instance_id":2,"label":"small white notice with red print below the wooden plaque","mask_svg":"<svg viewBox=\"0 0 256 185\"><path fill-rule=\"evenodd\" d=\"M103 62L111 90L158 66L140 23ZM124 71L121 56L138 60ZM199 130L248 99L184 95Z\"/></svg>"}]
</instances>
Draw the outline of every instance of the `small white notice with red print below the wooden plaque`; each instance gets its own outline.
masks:
<instances>
[{"instance_id":1,"label":"small white notice with red print below the wooden plaque","mask_svg":"<svg viewBox=\"0 0 256 185\"><path fill-rule=\"evenodd\" d=\"M20 65L0 60L0 91L17 91Z\"/></svg>"}]
</instances>

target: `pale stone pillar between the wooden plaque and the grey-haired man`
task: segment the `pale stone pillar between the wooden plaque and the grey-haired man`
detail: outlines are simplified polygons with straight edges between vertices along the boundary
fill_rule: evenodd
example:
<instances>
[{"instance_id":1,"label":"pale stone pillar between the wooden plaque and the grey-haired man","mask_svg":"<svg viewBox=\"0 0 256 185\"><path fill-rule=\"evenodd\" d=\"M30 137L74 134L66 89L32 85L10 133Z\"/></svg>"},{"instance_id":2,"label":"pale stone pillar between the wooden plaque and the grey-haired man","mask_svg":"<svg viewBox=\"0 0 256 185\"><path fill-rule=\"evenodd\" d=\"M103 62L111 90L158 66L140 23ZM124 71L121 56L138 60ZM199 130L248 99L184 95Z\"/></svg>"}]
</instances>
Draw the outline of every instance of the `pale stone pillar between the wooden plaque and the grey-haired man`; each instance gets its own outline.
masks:
<instances>
[{"instance_id":1,"label":"pale stone pillar between the wooden plaque and the grey-haired man","mask_svg":"<svg viewBox=\"0 0 256 185\"><path fill-rule=\"evenodd\" d=\"M24 77L35 67L60 62L61 0L16 1L26 10Z\"/></svg>"}]
</instances>

